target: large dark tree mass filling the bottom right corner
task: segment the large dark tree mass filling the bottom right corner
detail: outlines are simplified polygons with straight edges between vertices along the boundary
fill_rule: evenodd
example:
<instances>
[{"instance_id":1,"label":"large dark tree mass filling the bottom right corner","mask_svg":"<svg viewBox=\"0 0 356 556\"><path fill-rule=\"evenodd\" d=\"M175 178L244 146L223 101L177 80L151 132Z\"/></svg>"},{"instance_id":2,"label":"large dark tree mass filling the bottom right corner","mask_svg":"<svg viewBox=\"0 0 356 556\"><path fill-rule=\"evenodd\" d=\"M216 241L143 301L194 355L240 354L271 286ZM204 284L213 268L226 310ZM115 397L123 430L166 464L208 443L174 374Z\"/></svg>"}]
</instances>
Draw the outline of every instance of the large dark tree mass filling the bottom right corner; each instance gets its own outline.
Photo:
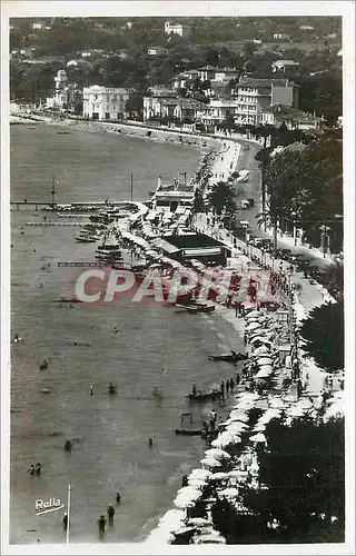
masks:
<instances>
[{"instance_id":1,"label":"large dark tree mass filling the bottom right corner","mask_svg":"<svg viewBox=\"0 0 356 556\"><path fill-rule=\"evenodd\" d=\"M276 518L281 542L315 542L310 529L328 533L332 518L344 523L344 420L305 417L286 426L283 417L271 420L265 435L268 450L260 451L258 460L266 488L247 489L245 505L265 524Z\"/></svg>"}]
</instances>

